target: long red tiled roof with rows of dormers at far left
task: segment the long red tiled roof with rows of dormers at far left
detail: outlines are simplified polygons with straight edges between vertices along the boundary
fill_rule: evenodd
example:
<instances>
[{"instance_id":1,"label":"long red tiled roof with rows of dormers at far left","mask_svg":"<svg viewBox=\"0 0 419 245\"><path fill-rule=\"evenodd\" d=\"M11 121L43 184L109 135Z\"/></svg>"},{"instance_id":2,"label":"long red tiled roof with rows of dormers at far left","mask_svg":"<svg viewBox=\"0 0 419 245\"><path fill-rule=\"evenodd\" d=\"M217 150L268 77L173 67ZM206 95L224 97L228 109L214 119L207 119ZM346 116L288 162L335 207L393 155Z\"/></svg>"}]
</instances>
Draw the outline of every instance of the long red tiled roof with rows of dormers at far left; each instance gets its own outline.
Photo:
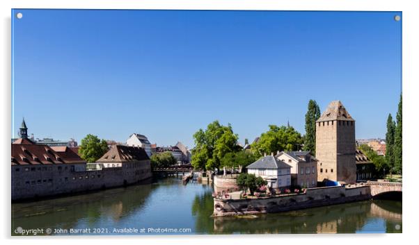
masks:
<instances>
[{"instance_id":1,"label":"long red tiled roof with rows of dormers at far left","mask_svg":"<svg viewBox=\"0 0 419 245\"><path fill-rule=\"evenodd\" d=\"M67 164L85 163L78 155L68 153L68 150L54 151L44 144L33 144L31 140L18 139L12 144L11 164Z\"/></svg>"}]
</instances>

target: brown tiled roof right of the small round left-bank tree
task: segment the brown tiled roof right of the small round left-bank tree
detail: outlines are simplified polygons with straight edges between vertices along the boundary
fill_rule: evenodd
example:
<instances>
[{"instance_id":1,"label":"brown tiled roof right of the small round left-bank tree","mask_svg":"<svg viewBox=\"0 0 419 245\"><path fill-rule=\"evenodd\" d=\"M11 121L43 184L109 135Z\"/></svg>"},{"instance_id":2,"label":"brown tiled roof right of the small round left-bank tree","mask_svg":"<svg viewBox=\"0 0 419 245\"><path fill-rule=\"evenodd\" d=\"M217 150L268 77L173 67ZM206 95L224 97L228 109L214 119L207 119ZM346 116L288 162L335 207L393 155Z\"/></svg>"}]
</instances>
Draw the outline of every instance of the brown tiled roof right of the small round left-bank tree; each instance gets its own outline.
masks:
<instances>
[{"instance_id":1,"label":"brown tiled roof right of the small round left-bank tree","mask_svg":"<svg viewBox=\"0 0 419 245\"><path fill-rule=\"evenodd\" d=\"M141 147L114 145L96 162L130 162L149 159L147 153Z\"/></svg>"}]
</instances>

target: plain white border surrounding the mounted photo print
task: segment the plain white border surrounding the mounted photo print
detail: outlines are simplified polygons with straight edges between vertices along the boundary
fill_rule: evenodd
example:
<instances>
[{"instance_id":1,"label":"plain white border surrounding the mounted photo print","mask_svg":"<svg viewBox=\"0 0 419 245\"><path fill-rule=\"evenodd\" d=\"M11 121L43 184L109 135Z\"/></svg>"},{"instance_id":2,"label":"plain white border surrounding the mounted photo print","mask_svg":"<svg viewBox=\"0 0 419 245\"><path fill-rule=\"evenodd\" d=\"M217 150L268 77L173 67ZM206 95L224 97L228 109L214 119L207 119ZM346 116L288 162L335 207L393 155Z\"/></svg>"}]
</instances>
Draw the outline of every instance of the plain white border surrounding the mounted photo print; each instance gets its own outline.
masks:
<instances>
[{"instance_id":1,"label":"plain white border surrounding the mounted photo print","mask_svg":"<svg viewBox=\"0 0 419 245\"><path fill-rule=\"evenodd\" d=\"M413 128L416 126L417 108L414 105L419 105L416 92L418 92L418 65L413 63L418 60L418 9L414 8L415 1L388 1L388 0L288 0L288 1L274 1L274 0L16 0L16 1L1 1L1 167L2 167L2 199L1 210L3 212L3 222L1 223L1 232L3 239L8 239L8 243L22 244L26 242L42 242L42 244L72 244L74 242L80 243L80 239L87 239L86 242L98 242L100 240L104 244L114 244L116 239L124 239L125 244L139 244L139 242L146 244L212 244L221 242L220 239L226 239L223 242L232 242L240 244L254 244L258 242L263 243L298 243L298 244L317 244L317 243L339 243L351 244L361 242L380 244L400 244L401 239L407 242L415 241L415 217L416 217L416 192L414 191L417 164L415 150L418 144L418 130ZM388 235L185 235L185 236L153 236L153 237L24 237L24 239L16 239L10 237L10 165L8 165L8 154L10 152L11 137L11 76L10 76L10 13L11 8L102 8L102 9L208 9L208 10L358 10L358 11L402 11L403 23L403 113L404 113L404 204L403 209L405 214L403 217L403 234L388 234ZM416 44L416 45L415 45ZM415 70L416 68L416 70ZM379 101L377 101L379 106ZM416 158L415 158L416 157ZM205 239L204 239L205 238ZM296 241L295 239L298 239ZM57 241L57 239L59 241ZM260 239L262 239L260 241Z\"/></svg>"}]
</instances>

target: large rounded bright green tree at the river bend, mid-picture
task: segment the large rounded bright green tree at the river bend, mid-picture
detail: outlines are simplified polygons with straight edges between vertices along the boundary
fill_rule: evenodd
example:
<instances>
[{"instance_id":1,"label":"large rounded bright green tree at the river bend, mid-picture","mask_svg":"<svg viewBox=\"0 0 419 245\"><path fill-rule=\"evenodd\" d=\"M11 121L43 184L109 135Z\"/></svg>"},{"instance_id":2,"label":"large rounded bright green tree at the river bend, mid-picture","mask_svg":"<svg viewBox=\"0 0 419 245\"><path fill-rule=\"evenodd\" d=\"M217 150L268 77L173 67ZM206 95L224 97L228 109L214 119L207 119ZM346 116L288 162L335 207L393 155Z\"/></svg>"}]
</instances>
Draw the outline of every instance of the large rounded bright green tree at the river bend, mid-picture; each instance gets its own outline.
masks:
<instances>
[{"instance_id":1,"label":"large rounded bright green tree at the river bend, mid-picture","mask_svg":"<svg viewBox=\"0 0 419 245\"><path fill-rule=\"evenodd\" d=\"M230 124L223 126L219 121L208 124L207 129L193 134L195 148L191 164L194 169L219 169L221 159L227 153L235 153L242 148L237 145L237 134L233 133Z\"/></svg>"}]
</instances>

